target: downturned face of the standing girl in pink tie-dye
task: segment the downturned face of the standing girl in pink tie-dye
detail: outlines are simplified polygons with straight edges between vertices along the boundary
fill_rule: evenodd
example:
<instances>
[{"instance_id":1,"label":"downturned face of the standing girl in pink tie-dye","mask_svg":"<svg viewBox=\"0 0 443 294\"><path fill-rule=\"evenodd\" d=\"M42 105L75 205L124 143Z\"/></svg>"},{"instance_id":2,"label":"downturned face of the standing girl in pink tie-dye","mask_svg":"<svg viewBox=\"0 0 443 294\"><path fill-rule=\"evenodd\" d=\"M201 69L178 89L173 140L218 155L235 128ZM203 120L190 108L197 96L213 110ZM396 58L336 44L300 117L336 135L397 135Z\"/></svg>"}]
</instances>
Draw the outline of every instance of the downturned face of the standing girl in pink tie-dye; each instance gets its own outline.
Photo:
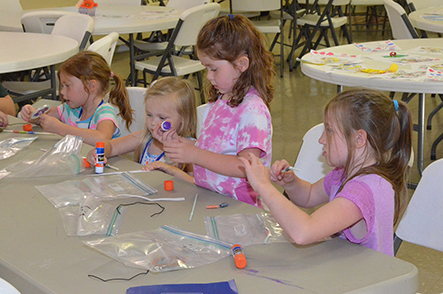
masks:
<instances>
[{"instance_id":1,"label":"downturned face of the standing girl in pink tie-dye","mask_svg":"<svg viewBox=\"0 0 443 294\"><path fill-rule=\"evenodd\" d=\"M221 94L232 92L232 88L237 82L238 77L242 73L240 69L233 66L227 60L217 60L208 57L205 54L197 52L198 59L207 69L207 78L212 86ZM227 98L227 97L223 97Z\"/></svg>"}]
</instances>

